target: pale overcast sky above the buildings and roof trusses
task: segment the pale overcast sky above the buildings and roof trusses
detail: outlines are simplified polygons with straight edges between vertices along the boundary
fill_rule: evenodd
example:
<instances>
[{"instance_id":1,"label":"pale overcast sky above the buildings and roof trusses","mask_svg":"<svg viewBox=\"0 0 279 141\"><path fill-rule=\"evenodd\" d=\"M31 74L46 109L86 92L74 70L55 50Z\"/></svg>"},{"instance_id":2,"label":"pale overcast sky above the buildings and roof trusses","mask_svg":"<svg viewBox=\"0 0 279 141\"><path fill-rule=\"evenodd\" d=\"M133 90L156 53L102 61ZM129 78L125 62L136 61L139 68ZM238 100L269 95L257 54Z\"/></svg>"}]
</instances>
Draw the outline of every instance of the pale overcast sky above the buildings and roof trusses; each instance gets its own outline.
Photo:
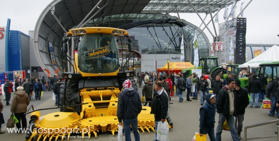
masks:
<instances>
[{"instance_id":1,"label":"pale overcast sky above the buildings and roof trusses","mask_svg":"<svg viewBox=\"0 0 279 141\"><path fill-rule=\"evenodd\" d=\"M241 0L237 3L236 15L240 12L241 2L244 6L250 0ZM11 19L11 30L19 30L28 34L29 30L34 30L37 19L43 9L52 0L5 0L0 8L0 26L7 25L7 19ZM279 44L279 0L253 0L244 11L247 18L246 43L259 44ZM229 6L231 8L231 6ZM230 9L229 9L230 12ZM223 20L224 8L219 13L219 21ZM171 14L177 16L177 14ZM202 18L205 14L201 14ZM210 15L207 16L209 21ZM180 14L180 18L200 26L202 23L196 13ZM203 28L204 26L202 26ZM218 25L216 25L218 29ZM211 32L214 34L213 26L210 24ZM205 30L210 42L213 42L211 34ZM217 31L218 33L218 31Z\"/></svg>"}]
</instances>

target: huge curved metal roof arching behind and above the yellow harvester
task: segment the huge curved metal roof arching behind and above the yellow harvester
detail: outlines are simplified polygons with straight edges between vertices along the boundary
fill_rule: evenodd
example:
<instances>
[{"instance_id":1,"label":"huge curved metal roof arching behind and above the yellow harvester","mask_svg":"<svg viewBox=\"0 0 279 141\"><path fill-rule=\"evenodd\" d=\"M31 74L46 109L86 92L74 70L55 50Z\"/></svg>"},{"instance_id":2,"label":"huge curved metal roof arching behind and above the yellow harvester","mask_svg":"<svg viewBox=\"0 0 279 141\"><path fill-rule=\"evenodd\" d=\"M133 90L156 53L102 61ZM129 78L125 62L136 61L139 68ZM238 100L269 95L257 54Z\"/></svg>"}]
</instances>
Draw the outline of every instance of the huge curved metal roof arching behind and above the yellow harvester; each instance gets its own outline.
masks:
<instances>
[{"instance_id":1,"label":"huge curved metal roof arching behind and above the yellow harvester","mask_svg":"<svg viewBox=\"0 0 279 141\"><path fill-rule=\"evenodd\" d=\"M218 8L232 4L234 0L208 1L211 11L215 12ZM49 69L51 75L54 75L56 69L61 69L59 48L62 45L63 36L69 29L89 25L98 26L107 20L104 17L109 18L113 15L138 16L140 13L148 15L152 13L160 17L160 15L165 15L162 13L194 12L193 8L200 13L209 13L207 0L54 0L43 10L36 23L35 55L42 69ZM130 22L133 22L132 18ZM109 24L110 27L114 26L113 23ZM49 43L53 45L56 64L52 63Z\"/></svg>"}]
</instances>

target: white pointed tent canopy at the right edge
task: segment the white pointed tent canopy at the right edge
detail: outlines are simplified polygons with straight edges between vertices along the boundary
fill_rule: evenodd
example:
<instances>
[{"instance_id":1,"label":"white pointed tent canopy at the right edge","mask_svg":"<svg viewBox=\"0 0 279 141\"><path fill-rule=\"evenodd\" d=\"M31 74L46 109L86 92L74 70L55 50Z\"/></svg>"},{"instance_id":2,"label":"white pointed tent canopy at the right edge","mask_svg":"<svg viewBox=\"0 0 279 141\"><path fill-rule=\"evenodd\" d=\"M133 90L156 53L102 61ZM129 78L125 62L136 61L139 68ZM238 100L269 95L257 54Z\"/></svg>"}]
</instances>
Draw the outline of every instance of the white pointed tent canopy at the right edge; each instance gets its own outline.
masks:
<instances>
[{"instance_id":1,"label":"white pointed tent canopy at the right edge","mask_svg":"<svg viewBox=\"0 0 279 141\"><path fill-rule=\"evenodd\" d=\"M273 45L271 48L267 49L262 54L258 55L254 59L239 65L239 68L259 67L261 63L276 62L279 61L279 46Z\"/></svg>"}]
</instances>

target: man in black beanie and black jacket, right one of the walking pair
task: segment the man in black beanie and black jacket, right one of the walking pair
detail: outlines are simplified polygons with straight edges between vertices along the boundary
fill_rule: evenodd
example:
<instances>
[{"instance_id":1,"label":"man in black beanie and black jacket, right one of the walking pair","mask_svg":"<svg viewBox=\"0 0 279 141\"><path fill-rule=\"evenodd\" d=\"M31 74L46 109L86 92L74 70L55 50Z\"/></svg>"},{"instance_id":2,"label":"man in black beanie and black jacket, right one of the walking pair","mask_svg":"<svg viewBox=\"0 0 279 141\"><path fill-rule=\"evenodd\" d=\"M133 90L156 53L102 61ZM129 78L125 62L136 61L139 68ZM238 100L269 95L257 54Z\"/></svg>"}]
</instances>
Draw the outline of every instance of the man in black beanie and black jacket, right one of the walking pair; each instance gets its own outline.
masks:
<instances>
[{"instance_id":1,"label":"man in black beanie and black jacket, right one of the walking pair","mask_svg":"<svg viewBox=\"0 0 279 141\"><path fill-rule=\"evenodd\" d=\"M235 129L238 134L238 138L241 139L241 132L243 127L244 113L246 107L249 105L249 97L246 88L240 87L240 80L235 80L234 86L234 96L235 96L235 105L234 105L234 116L235 116Z\"/></svg>"}]
</instances>

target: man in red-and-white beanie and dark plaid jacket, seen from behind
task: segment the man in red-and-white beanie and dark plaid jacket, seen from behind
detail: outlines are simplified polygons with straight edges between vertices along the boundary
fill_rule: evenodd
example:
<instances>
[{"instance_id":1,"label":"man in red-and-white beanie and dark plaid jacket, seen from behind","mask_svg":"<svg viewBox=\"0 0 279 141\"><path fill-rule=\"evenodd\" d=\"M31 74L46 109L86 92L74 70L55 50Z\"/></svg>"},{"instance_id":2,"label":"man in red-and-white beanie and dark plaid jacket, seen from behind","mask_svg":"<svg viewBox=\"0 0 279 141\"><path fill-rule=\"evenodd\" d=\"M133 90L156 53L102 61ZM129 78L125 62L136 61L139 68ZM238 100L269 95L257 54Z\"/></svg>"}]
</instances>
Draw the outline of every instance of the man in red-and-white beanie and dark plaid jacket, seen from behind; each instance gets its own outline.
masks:
<instances>
[{"instance_id":1,"label":"man in red-and-white beanie and dark plaid jacket, seen from behind","mask_svg":"<svg viewBox=\"0 0 279 141\"><path fill-rule=\"evenodd\" d=\"M138 114L142 110L139 92L132 87L132 82L127 79L123 82L123 90L118 94L117 118L119 124L124 126L126 141L131 140L131 126L135 141L140 141L138 132Z\"/></svg>"}]
</instances>

